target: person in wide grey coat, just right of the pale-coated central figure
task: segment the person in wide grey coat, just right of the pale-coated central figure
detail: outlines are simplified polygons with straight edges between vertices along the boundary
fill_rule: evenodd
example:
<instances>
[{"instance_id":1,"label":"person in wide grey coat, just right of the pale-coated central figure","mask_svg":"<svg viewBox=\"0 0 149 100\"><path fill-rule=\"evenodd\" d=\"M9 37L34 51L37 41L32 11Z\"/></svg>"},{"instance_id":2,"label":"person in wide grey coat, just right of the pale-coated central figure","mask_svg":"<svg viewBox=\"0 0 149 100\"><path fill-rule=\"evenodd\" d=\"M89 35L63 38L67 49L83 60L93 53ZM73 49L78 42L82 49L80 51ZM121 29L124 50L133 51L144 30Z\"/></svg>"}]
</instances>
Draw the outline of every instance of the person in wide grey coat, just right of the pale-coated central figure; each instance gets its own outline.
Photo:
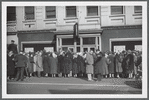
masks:
<instances>
[{"instance_id":1,"label":"person in wide grey coat, just right of the pale-coated central figure","mask_svg":"<svg viewBox=\"0 0 149 100\"><path fill-rule=\"evenodd\" d=\"M95 62L96 67L95 74L97 74L97 81L101 81L103 76L107 78L108 65L110 64L110 60L107 57L108 55L103 52L100 52L98 54L98 58Z\"/></svg>"}]
</instances>

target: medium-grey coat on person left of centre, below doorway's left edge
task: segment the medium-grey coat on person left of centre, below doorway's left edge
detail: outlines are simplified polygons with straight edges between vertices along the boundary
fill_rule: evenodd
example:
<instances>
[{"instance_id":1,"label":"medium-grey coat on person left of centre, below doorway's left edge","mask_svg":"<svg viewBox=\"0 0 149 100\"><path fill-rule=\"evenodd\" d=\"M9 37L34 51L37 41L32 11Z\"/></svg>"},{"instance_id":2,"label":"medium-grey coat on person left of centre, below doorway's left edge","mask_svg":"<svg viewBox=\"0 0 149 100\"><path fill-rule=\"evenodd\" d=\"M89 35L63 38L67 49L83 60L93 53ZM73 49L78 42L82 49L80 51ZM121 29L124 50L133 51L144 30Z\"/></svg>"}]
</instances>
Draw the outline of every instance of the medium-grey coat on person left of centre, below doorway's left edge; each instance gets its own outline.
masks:
<instances>
[{"instance_id":1,"label":"medium-grey coat on person left of centre, below doorway's left edge","mask_svg":"<svg viewBox=\"0 0 149 100\"><path fill-rule=\"evenodd\" d=\"M50 74L57 74L58 59L49 57Z\"/></svg>"}]
</instances>

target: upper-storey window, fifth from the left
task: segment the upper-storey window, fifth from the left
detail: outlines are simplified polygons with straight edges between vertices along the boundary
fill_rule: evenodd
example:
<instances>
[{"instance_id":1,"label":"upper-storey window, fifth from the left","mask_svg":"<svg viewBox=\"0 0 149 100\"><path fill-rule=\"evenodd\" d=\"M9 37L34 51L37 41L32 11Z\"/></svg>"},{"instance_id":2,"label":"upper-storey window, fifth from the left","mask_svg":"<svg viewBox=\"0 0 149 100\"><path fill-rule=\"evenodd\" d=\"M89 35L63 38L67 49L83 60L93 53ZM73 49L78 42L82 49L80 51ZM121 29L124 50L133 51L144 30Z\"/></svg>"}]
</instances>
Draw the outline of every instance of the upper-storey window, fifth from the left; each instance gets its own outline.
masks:
<instances>
[{"instance_id":1,"label":"upper-storey window, fifth from the left","mask_svg":"<svg viewBox=\"0 0 149 100\"><path fill-rule=\"evenodd\" d=\"M87 16L98 16L98 6L87 6Z\"/></svg>"}]
</instances>

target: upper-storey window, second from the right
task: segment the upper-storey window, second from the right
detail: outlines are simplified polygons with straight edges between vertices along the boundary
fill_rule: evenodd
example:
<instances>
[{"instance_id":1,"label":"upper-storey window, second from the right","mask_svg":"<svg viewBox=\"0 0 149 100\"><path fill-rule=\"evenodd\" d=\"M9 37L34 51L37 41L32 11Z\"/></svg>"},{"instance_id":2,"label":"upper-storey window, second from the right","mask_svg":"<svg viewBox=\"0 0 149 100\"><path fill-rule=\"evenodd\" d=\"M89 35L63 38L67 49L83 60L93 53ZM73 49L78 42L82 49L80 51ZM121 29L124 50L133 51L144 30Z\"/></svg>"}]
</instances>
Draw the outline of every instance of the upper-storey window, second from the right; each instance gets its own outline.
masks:
<instances>
[{"instance_id":1,"label":"upper-storey window, second from the right","mask_svg":"<svg viewBox=\"0 0 149 100\"><path fill-rule=\"evenodd\" d=\"M111 6L111 15L124 14L123 6Z\"/></svg>"}]
</instances>

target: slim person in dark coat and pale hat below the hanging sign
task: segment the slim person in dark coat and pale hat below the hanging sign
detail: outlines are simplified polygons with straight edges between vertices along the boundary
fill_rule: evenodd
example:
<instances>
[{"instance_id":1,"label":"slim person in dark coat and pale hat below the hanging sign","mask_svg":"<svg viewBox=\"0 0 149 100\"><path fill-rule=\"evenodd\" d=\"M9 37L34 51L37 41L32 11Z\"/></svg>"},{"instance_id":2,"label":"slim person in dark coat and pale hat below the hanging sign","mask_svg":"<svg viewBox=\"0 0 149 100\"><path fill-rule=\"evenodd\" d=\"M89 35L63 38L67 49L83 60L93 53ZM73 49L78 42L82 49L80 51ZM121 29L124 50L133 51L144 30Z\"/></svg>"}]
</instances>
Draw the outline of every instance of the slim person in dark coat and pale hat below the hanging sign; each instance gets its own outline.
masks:
<instances>
[{"instance_id":1,"label":"slim person in dark coat and pale hat below the hanging sign","mask_svg":"<svg viewBox=\"0 0 149 100\"><path fill-rule=\"evenodd\" d=\"M73 55L73 60L72 60L72 74L74 77L77 77L78 74L78 61L77 61L77 54Z\"/></svg>"}]
</instances>

